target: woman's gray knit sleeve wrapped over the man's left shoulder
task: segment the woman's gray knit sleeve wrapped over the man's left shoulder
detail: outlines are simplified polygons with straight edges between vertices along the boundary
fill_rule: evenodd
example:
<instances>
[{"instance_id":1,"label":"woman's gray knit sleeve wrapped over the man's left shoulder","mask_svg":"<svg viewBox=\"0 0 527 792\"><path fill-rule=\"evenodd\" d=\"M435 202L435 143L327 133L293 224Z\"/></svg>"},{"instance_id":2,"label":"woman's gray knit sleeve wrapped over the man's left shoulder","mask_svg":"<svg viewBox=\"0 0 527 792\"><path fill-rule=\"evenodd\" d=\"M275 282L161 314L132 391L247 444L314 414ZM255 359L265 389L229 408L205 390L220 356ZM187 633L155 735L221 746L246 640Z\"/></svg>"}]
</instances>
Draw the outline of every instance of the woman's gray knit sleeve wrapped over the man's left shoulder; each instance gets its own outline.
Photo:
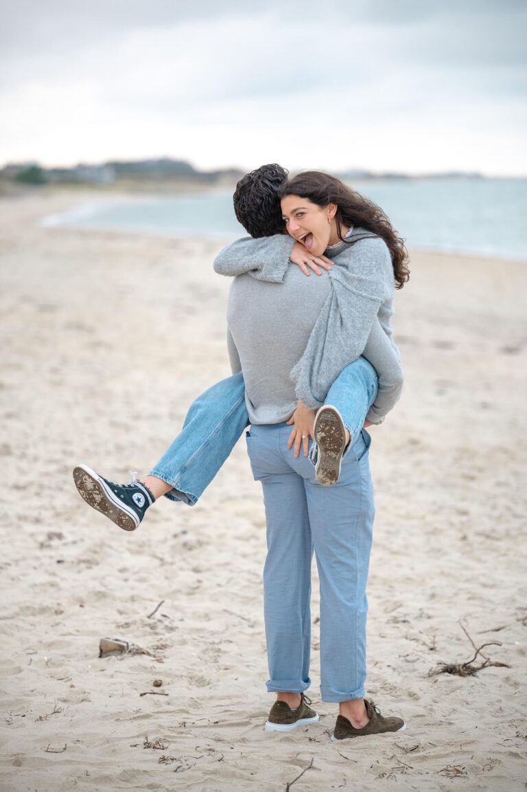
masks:
<instances>
[{"instance_id":1,"label":"woman's gray knit sleeve wrapped over the man's left shoulder","mask_svg":"<svg viewBox=\"0 0 527 792\"><path fill-rule=\"evenodd\" d=\"M288 234L242 237L220 250L214 259L214 272L230 277L248 272L256 280L281 284L290 266L293 245L294 239Z\"/></svg>"}]
</instances>

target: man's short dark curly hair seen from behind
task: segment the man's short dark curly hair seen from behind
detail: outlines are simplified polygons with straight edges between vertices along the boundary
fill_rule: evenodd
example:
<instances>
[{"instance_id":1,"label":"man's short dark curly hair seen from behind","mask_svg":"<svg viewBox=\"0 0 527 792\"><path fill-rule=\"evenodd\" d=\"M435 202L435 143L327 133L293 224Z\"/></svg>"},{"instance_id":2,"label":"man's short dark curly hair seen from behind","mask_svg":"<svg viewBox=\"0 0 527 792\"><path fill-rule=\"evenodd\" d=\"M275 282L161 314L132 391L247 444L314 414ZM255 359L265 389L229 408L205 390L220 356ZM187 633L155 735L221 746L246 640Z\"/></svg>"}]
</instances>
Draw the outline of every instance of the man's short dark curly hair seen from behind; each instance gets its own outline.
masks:
<instances>
[{"instance_id":1,"label":"man's short dark curly hair seen from behind","mask_svg":"<svg viewBox=\"0 0 527 792\"><path fill-rule=\"evenodd\" d=\"M283 234L279 188L287 179L287 171L279 165L263 165L238 181L234 193L234 212L238 222L252 237Z\"/></svg>"}]
</instances>

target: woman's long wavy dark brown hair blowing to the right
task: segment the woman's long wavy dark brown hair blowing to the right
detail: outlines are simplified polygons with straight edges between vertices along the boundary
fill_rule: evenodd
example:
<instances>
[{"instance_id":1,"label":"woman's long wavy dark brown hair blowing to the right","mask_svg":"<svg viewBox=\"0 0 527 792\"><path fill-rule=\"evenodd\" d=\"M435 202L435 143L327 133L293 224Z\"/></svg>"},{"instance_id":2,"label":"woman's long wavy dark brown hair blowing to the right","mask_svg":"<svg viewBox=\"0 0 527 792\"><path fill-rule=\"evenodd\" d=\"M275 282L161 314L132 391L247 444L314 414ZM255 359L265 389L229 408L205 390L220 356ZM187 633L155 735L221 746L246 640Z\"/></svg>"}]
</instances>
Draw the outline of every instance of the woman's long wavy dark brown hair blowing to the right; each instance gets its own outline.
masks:
<instances>
[{"instance_id":1,"label":"woman's long wavy dark brown hair blowing to the right","mask_svg":"<svg viewBox=\"0 0 527 792\"><path fill-rule=\"evenodd\" d=\"M408 252L404 246L404 239L397 236L384 211L372 200L347 187L336 177L330 176L329 173L322 173L320 170L306 170L304 173L298 173L298 176L294 176L282 184L279 195L281 198L283 196L308 198L317 206L336 204L337 234L339 239L347 244L353 245L354 242L353 240L348 242L344 238L343 229L351 226L364 228L384 239L392 257L396 288L402 289L410 277Z\"/></svg>"}]
</instances>

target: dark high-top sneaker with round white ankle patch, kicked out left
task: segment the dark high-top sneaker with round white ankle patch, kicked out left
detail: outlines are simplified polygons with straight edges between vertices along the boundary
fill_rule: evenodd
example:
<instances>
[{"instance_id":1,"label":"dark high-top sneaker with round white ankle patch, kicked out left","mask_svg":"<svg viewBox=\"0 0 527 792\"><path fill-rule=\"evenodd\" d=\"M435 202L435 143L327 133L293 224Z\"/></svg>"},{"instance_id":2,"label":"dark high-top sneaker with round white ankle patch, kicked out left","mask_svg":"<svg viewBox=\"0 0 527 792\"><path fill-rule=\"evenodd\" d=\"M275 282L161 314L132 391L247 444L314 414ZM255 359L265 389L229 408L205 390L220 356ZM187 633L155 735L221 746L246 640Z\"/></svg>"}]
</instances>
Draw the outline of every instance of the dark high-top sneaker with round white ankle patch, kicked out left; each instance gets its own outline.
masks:
<instances>
[{"instance_id":1,"label":"dark high-top sneaker with round white ankle patch, kicked out left","mask_svg":"<svg viewBox=\"0 0 527 792\"><path fill-rule=\"evenodd\" d=\"M131 476L130 484L114 484L87 465L74 468L75 486L86 503L124 531L135 531L155 501L150 489L137 481L137 474Z\"/></svg>"}]
</instances>

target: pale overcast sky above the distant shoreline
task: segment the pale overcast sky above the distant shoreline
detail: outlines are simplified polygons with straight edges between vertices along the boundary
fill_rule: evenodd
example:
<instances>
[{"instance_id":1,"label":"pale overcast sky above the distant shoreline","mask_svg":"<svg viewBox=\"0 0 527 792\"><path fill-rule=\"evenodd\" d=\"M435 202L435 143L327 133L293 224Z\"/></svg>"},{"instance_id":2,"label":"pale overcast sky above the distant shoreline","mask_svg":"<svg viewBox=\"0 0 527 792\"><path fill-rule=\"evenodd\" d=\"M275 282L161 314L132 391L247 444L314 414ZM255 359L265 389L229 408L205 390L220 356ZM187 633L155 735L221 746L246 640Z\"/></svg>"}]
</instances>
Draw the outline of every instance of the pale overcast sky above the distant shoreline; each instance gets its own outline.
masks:
<instances>
[{"instance_id":1,"label":"pale overcast sky above the distant shoreline","mask_svg":"<svg viewBox=\"0 0 527 792\"><path fill-rule=\"evenodd\" d=\"M0 165L527 175L525 0L0 0Z\"/></svg>"}]
</instances>

